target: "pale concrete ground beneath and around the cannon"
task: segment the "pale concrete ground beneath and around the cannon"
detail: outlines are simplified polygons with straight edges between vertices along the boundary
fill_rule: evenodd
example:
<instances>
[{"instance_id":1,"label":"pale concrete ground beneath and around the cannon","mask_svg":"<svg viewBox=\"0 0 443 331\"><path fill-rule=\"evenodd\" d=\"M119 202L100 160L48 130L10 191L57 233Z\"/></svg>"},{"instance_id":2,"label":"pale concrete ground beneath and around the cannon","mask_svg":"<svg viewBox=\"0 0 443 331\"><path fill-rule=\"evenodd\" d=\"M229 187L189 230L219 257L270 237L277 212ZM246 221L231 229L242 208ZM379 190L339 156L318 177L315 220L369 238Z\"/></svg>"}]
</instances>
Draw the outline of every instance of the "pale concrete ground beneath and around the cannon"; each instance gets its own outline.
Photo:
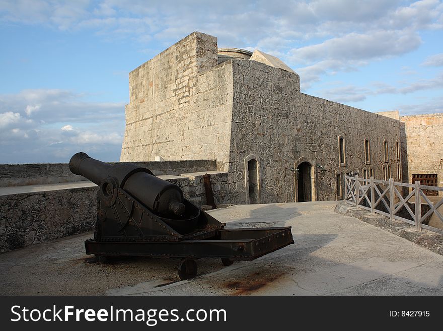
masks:
<instances>
[{"instance_id":1,"label":"pale concrete ground beneath and around the cannon","mask_svg":"<svg viewBox=\"0 0 443 331\"><path fill-rule=\"evenodd\" d=\"M295 244L223 267L178 259L91 263L77 235L0 255L3 295L443 295L443 256L353 217L336 202L233 206L210 211L227 227L292 226Z\"/></svg>"}]
</instances>

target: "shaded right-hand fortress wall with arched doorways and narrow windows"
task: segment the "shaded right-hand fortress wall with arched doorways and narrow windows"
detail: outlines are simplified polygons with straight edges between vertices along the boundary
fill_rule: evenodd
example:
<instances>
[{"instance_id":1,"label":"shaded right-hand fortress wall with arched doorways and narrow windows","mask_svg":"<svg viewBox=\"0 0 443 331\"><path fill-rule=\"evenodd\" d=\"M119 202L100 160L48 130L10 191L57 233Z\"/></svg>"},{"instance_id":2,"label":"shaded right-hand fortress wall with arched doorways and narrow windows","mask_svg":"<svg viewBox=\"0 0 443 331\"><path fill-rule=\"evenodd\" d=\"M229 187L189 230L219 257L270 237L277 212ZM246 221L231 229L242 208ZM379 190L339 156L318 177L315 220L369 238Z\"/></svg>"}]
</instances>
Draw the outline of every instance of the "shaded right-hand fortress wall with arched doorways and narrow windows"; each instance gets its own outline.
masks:
<instances>
[{"instance_id":1,"label":"shaded right-hand fortress wall with arched doorways and narrow windows","mask_svg":"<svg viewBox=\"0 0 443 331\"><path fill-rule=\"evenodd\" d=\"M297 162L311 161L315 200L335 200L336 174L368 173L382 178L383 165L396 176L400 123L329 100L300 93L297 74L268 65L233 60L233 124L228 185L231 203L246 202L245 158L259 159L261 203L295 199ZM225 62L227 63L227 62ZM345 166L339 165L338 137L345 139ZM366 164L364 140L370 141L371 162ZM389 162L383 144L388 142ZM299 160L299 161L298 161Z\"/></svg>"}]
</instances>

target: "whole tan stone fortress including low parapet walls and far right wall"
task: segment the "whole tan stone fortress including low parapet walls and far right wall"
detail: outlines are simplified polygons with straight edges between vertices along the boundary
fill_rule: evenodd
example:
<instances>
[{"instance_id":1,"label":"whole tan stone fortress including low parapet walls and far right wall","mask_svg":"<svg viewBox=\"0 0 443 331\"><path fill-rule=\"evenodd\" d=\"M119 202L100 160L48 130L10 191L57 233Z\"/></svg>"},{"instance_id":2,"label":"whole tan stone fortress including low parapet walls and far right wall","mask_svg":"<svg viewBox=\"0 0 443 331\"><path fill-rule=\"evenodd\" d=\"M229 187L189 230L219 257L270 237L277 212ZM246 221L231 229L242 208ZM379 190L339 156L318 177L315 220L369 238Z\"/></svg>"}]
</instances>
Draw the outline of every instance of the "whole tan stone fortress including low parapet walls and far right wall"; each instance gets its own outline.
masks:
<instances>
[{"instance_id":1,"label":"whole tan stone fortress including low parapet walls and far right wall","mask_svg":"<svg viewBox=\"0 0 443 331\"><path fill-rule=\"evenodd\" d=\"M301 93L278 58L218 49L200 32L133 70L129 96L120 162L198 206L205 173L217 205L340 200L344 174L443 186L443 114L376 114ZM92 229L96 191L67 164L0 165L0 252Z\"/></svg>"}]
</instances>

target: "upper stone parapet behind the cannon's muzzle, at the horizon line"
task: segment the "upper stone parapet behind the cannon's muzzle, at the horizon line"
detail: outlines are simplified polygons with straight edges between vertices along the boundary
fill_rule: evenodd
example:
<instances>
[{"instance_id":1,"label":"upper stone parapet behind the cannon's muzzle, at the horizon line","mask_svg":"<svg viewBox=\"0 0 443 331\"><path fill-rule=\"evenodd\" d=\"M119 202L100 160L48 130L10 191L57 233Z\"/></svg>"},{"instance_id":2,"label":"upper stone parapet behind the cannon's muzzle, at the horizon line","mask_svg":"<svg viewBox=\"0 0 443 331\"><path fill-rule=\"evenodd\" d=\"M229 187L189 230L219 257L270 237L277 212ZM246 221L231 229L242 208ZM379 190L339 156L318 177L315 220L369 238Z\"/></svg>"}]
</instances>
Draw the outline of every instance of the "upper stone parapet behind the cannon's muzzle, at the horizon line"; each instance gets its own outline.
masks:
<instances>
[{"instance_id":1,"label":"upper stone parapet behind the cannon's muzzle, at the horizon line","mask_svg":"<svg viewBox=\"0 0 443 331\"><path fill-rule=\"evenodd\" d=\"M117 164L121 162L108 162ZM134 162L155 175L216 170L214 160ZM86 180L70 172L67 163L0 164L0 187L55 184Z\"/></svg>"}]
</instances>

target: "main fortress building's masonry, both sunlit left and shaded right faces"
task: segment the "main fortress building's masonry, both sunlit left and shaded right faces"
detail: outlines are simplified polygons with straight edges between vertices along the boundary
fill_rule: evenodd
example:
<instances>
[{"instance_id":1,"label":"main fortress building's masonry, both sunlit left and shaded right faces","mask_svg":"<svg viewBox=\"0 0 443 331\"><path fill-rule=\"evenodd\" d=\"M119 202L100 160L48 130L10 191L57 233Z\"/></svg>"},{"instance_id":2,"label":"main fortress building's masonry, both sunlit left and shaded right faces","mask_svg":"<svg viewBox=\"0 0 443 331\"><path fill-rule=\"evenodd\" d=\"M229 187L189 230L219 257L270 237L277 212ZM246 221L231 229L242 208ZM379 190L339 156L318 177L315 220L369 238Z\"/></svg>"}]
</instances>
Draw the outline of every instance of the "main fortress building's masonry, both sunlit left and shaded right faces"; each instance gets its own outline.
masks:
<instances>
[{"instance_id":1,"label":"main fortress building's masonry, both sunlit left and shaded right faces","mask_svg":"<svg viewBox=\"0 0 443 331\"><path fill-rule=\"evenodd\" d=\"M121 161L215 159L229 203L334 200L344 173L396 178L398 120L301 93L266 56L217 64L216 38L194 32L131 72Z\"/></svg>"}]
</instances>

